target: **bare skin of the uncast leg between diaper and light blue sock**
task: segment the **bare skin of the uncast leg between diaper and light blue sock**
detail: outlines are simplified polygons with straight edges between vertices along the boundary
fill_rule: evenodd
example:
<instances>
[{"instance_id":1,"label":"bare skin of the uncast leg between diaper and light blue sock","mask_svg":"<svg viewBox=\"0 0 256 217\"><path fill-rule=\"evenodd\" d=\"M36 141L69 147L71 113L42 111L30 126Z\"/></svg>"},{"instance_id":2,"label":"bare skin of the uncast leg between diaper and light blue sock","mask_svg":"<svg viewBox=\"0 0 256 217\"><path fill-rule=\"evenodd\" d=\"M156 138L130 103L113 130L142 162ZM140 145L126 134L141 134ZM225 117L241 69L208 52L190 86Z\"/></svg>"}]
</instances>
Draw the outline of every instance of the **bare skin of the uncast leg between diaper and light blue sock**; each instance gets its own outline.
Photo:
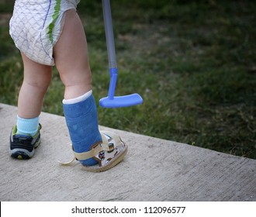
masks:
<instances>
[{"instance_id":1,"label":"bare skin of the uncast leg between diaper and light blue sock","mask_svg":"<svg viewBox=\"0 0 256 217\"><path fill-rule=\"evenodd\" d=\"M22 53L24 78L19 91L18 115L33 119L41 112L43 97L50 84L52 67L38 64Z\"/></svg>"}]
</instances>

